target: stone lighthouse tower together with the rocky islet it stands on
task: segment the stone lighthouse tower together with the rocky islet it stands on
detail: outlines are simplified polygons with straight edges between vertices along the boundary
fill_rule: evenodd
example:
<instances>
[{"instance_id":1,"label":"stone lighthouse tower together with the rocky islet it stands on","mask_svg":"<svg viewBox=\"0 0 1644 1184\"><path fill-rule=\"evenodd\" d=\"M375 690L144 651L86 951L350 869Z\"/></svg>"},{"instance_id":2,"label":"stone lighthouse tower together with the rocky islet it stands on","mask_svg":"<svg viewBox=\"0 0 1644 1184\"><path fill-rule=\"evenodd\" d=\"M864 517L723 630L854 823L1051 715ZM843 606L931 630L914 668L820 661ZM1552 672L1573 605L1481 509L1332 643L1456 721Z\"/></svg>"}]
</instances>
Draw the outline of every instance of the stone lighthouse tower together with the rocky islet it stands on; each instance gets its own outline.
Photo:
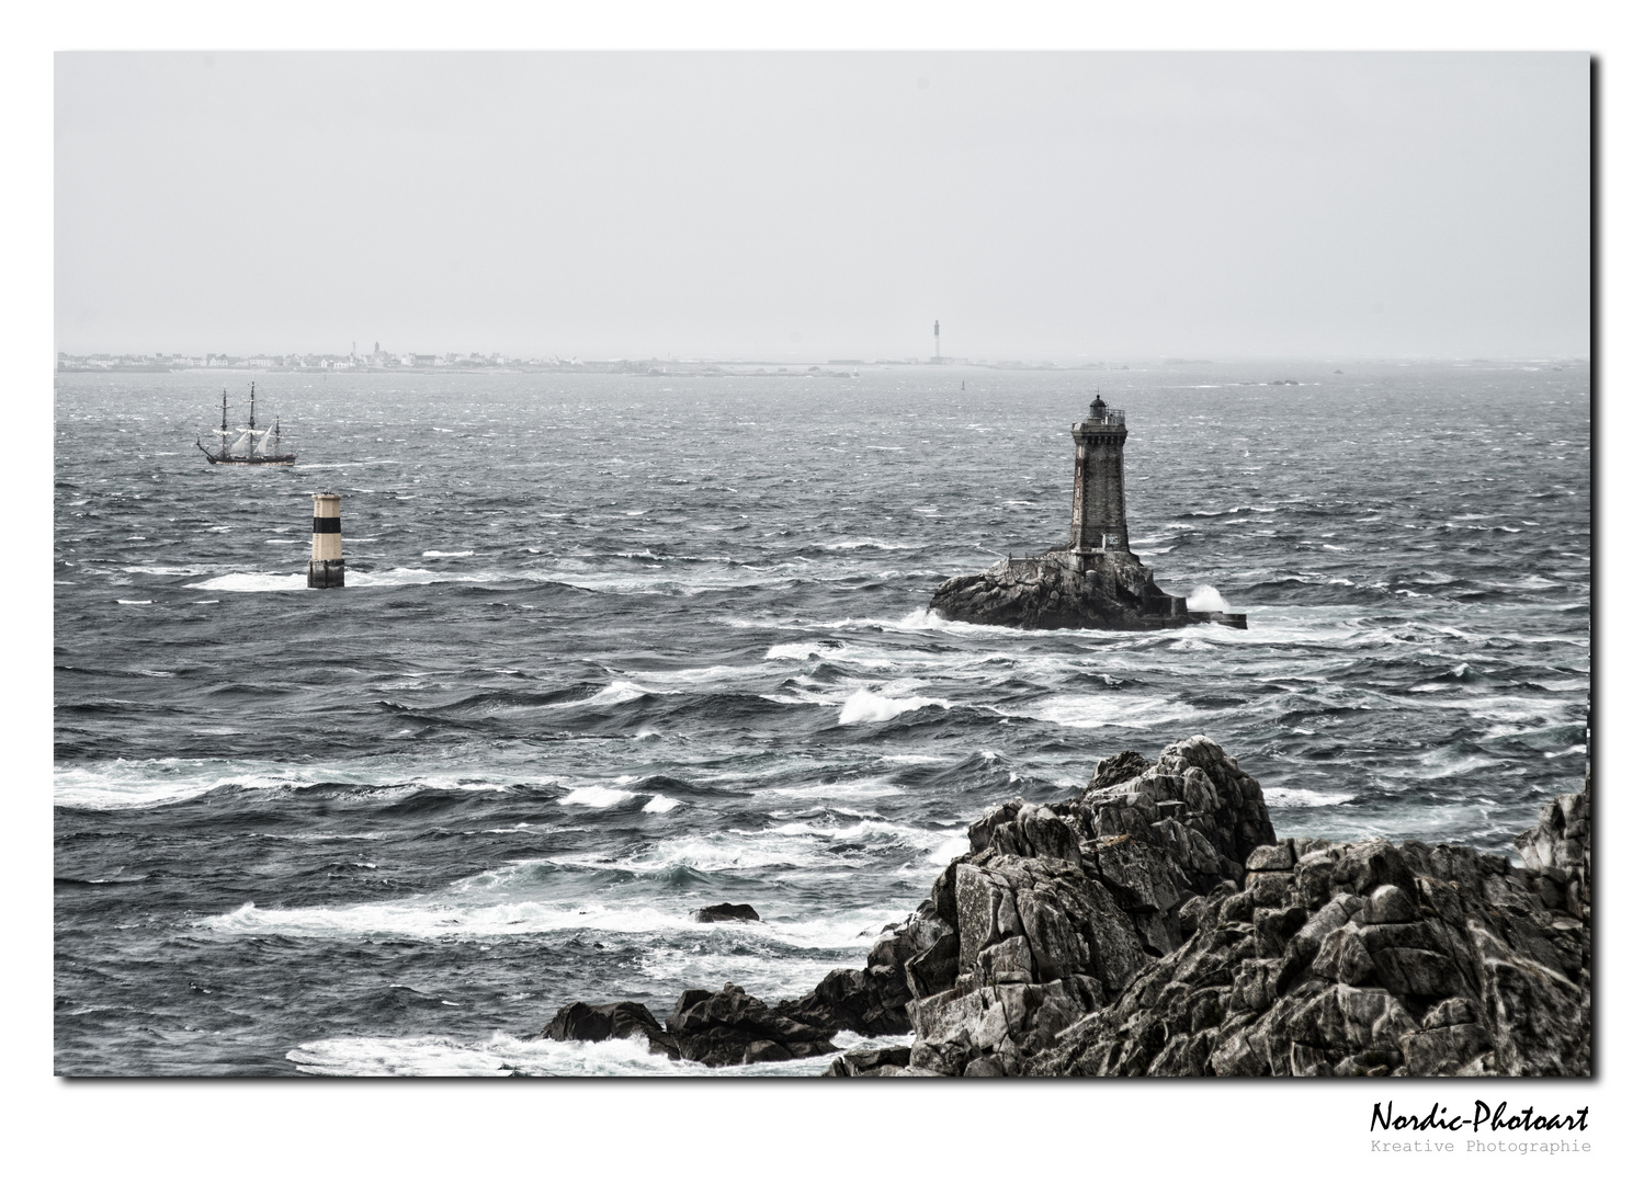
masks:
<instances>
[{"instance_id":1,"label":"stone lighthouse tower together with the rocky islet it stands on","mask_svg":"<svg viewBox=\"0 0 1644 1184\"><path fill-rule=\"evenodd\" d=\"M1018 628L1148 630L1217 622L1245 628L1245 613L1189 612L1185 597L1152 582L1129 549L1124 521L1124 413L1097 395L1074 432L1074 523L1069 541L1026 559L947 580L931 610L949 620Z\"/></svg>"}]
</instances>

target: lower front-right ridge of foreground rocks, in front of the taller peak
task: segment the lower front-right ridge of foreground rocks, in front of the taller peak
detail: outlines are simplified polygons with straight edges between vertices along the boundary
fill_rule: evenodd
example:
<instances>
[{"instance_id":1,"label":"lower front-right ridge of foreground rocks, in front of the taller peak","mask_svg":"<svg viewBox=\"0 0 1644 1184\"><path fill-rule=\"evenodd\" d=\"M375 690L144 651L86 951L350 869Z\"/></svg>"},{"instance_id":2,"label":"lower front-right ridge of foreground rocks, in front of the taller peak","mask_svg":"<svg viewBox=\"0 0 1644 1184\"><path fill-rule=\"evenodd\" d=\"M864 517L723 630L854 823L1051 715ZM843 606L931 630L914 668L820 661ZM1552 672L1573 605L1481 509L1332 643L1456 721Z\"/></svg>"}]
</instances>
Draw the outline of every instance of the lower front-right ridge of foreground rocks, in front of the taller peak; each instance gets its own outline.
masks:
<instances>
[{"instance_id":1,"label":"lower front-right ridge of foreground rocks, in front of the taller peak","mask_svg":"<svg viewBox=\"0 0 1644 1184\"><path fill-rule=\"evenodd\" d=\"M1591 1072L1588 929L1547 908L1522 868L1381 839L1310 844L1289 870L1269 847L1256 862L1246 883L1274 885L1261 891L1276 906L1238 908L1256 890L1213 893L1177 950L1024 1072Z\"/></svg>"}]
</instances>

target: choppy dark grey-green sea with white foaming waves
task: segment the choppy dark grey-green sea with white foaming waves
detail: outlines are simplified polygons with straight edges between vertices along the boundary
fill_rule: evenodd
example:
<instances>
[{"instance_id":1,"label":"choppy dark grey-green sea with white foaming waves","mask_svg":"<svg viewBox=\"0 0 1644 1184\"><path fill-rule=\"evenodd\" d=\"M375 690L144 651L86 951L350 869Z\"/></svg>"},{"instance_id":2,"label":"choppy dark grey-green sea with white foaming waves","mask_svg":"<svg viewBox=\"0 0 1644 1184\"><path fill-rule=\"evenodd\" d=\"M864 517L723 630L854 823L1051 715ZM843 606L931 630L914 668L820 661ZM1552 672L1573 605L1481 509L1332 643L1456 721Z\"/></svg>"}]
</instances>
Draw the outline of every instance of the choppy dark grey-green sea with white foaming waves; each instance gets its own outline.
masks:
<instances>
[{"instance_id":1,"label":"choppy dark grey-green sea with white foaming waves","mask_svg":"<svg viewBox=\"0 0 1644 1184\"><path fill-rule=\"evenodd\" d=\"M1508 850L1585 761L1588 370L1340 368L256 375L289 470L192 447L245 375L59 377L58 1071L715 1072L523 1038L804 993L983 807L1195 732L1279 834ZM1065 536L1097 382L1133 548L1248 631L924 612Z\"/></svg>"}]
</instances>

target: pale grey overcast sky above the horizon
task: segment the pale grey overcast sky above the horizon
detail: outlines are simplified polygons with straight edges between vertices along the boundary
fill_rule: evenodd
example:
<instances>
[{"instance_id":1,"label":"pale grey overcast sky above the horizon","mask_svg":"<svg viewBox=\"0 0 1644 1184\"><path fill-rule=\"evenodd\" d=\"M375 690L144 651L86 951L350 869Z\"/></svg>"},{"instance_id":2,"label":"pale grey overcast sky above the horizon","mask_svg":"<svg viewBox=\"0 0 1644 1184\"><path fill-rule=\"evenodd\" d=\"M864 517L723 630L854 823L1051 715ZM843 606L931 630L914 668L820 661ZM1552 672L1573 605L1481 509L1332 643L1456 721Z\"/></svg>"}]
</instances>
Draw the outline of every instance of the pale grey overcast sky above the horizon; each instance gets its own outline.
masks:
<instances>
[{"instance_id":1,"label":"pale grey overcast sky above the horizon","mask_svg":"<svg viewBox=\"0 0 1644 1184\"><path fill-rule=\"evenodd\" d=\"M67 352L1588 352L1586 54L56 62Z\"/></svg>"}]
</instances>

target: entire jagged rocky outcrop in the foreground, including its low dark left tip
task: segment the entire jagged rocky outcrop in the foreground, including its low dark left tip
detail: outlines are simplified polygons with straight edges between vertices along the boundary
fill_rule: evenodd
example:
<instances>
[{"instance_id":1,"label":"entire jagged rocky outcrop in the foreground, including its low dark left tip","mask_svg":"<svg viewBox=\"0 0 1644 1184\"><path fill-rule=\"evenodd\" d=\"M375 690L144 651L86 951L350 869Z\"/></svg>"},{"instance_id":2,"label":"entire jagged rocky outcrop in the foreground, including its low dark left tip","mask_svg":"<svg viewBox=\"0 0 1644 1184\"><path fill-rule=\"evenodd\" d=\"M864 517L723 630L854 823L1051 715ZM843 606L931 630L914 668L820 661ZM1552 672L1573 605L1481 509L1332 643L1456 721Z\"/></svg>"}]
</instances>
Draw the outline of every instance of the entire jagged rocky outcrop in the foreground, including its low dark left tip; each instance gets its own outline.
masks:
<instances>
[{"instance_id":1,"label":"entire jagged rocky outcrop in the foreground, including its low dark left tip","mask_svg":"<svg viewBox=\"0 0 1644 1184\"><path fill-rule=\"evenodd\" d=\"M1208 738L1128 752L1077 798L988 811L863 970L776 1006L686 992L644 1031L705 1064L912 1033L835 1057L837 1077L1586 1075L1590 801L1588 778L1549 802L1521 868L1452 844L1279 840ZM623 1036L633 1008L574 1003L543 1036Z\"/></svg>"}]
</instances>

